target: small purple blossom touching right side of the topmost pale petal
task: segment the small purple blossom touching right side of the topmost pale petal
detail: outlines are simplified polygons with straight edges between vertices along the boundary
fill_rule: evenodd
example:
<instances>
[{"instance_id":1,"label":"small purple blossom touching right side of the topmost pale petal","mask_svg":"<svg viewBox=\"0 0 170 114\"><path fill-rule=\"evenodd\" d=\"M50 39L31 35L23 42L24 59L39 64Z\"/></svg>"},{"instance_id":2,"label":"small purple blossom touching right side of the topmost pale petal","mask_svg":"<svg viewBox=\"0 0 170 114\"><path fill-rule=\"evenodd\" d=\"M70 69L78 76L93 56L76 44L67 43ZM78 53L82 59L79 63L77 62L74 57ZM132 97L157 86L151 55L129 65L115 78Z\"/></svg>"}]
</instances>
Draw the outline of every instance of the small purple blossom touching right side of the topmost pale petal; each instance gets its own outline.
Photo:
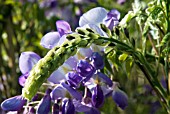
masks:
<instances>
[{"instance_id":1,"label":"small purple blossom touching right side of the topmost pale petal","mask_svg":"<svg viewBox=\"0 0 170 114\"><path fill-rule=\"evenodd\" d=\"M112 30L114 26L119 24L120 12L116 9L112 9L109 13L107 13L107 17L104 19L104 24Z\"/></svg>"}]
</instances>

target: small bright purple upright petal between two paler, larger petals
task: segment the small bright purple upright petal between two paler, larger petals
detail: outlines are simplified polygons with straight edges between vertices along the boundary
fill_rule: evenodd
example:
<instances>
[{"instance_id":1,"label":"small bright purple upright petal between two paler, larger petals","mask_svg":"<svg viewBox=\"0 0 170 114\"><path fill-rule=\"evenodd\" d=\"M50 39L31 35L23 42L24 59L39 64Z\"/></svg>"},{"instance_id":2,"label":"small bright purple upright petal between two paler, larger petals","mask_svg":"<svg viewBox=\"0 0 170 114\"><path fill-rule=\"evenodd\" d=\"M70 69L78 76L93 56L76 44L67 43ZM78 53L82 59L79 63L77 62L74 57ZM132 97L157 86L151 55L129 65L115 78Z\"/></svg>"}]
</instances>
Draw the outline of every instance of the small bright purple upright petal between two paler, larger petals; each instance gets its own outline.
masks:
<instances>
[{"instance_id":1,"label":"small bright purple upright petal between two paler, larger petals","mask_svg":"<svg viewBox=\"0 0 170 114\"><path fill-rule=\"evenodd\" d=\"M56 21L56 27L60 36L71 32L70 24L64 20Z\"/></svg>"}]
</instances>

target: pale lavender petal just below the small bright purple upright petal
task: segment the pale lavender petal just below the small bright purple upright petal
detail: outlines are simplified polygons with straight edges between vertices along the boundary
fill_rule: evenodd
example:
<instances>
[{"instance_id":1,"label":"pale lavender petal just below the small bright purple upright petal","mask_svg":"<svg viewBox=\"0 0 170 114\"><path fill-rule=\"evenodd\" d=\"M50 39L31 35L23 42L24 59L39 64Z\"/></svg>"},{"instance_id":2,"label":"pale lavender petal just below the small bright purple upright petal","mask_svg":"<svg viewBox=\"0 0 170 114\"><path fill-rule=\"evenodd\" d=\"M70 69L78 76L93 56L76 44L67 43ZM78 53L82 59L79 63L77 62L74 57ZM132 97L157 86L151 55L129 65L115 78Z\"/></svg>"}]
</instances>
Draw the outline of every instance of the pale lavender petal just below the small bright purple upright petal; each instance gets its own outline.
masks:
<instances>
[{"instance_id":1,"label":"pale lavender petal just below the small bright purple upright petal","mask_svg":"<svg viewBox=\"0 0 170 114\"><path fill-rule=\"evenodd\" d=\"M47 49L52 49L57 45L59 40L60 34L58 32L49 32L42 37L40 45Z\"/></svg>"}]
</instances>

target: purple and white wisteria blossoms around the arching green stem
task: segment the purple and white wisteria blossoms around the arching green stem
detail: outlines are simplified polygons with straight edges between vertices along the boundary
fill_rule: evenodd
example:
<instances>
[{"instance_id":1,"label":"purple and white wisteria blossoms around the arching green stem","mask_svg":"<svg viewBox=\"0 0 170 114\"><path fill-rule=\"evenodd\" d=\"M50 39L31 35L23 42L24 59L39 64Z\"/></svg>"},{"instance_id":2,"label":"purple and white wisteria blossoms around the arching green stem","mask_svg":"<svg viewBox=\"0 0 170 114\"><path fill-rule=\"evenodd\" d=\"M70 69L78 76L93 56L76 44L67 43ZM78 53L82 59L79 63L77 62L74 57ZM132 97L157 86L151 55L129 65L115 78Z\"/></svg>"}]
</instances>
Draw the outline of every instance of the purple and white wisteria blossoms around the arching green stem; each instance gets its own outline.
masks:
<instances>
[{"instance_id":1,"label":"purple and white wisteria blossoms around the arching green stem","mask_svg":"<svg viewBox=\"0 0 170 114\"><path fill-rule=\"evenodd\" d=\"M119 19L120 13L116 9L108 12L102 7L97 7L80 17L77 29L89 28L101 36L107 36L99 25L105 24L112 30L119 24ZM75 33L71 30L69 23L64 20L57 21L56 27L58 31L49 32L41 39L40 44L43 47L47 49L60 47L68 41L66 38L68 34ZM127 95L118 89L117 83L102 71L105 66L104 53L105 47L94 44L89 48L79 48L74 56L69 57L50 75L49 88L40 101L36 102L36 96L29 102L22 95L15 96L2 102L2 109L19 111L24 107L25 113L36 112L38 114L49 112L53 114L60 112L62 114L75 114L76 112L100 114L99 108L104 105L108 96L112 96L117 106L125 109L128 105ZM21 54L19 58L19 67L23 74L19 78L21 86L24 87L31 69L39 60L41 57L34 52ZM38 105L31 105L31 103L38 103Z\"/></svg>"}]
</instances>

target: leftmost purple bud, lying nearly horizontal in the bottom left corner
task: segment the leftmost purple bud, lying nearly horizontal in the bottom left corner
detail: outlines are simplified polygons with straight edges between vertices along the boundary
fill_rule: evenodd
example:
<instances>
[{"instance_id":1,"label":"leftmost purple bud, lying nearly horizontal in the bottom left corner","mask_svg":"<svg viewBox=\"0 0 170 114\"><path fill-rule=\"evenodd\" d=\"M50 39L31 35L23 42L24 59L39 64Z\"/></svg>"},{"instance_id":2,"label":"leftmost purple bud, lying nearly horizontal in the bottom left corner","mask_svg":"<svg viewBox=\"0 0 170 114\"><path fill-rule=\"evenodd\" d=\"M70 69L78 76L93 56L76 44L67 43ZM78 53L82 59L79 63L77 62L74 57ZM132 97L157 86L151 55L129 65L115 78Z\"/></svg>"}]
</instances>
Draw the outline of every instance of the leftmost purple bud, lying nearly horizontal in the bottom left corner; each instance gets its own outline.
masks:
<instances>
[{"instance_id":1,"label":"leftmost purple bud, lying nearly horizontal in the bottom left corner","mask_svg":"<svg viewBox=\"0 0 170 114\"><path fill-rule=\"evenodd\" d=\"M6 99L1 103L1 108L5 111L18 111L27 102L21 95Z\"/></svg>"}]
</instances>

